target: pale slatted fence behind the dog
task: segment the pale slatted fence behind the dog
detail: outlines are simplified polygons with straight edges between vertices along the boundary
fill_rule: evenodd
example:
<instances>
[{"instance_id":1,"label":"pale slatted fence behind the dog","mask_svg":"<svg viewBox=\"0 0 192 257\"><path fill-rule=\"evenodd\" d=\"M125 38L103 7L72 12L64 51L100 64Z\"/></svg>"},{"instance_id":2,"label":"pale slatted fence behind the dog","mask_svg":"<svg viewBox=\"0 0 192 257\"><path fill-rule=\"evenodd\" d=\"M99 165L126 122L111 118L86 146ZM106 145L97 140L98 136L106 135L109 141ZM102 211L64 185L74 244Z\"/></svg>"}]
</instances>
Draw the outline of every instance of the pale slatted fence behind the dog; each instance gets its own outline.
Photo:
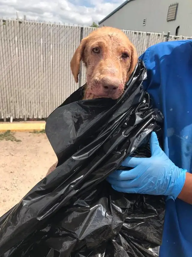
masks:
<instances>
[{"instance_id":1,"label":"pale slatted fence behind the dog","mask_svg":"<svg viewBox=\"0 0 192 257\"><path fill-rule=\"evenodd\" d=\"M32 21L0 20L0 120L46 118L79 83L70 71L70 59L80 41L95 30ZM142 54L158 42L188 39L169 33L124 31Z\"/></svg>"}]
</instances>

